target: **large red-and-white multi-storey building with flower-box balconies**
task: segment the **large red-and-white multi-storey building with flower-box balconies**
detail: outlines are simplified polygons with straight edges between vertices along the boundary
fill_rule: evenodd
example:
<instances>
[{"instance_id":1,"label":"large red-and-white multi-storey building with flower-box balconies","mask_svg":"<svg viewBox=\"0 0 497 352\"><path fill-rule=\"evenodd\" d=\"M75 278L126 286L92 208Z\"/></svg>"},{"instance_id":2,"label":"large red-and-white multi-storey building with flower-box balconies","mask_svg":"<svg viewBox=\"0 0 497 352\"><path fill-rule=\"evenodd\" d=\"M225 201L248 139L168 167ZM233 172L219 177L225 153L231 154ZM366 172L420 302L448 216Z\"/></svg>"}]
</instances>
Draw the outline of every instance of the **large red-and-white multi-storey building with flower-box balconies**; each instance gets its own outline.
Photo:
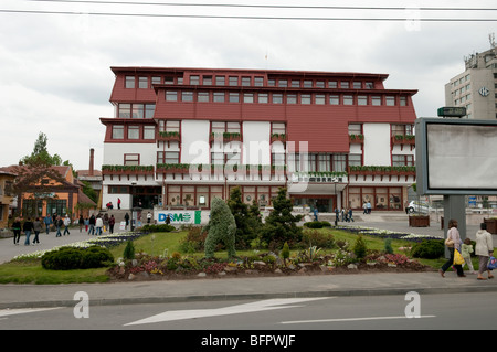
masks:
<instances>
[{"instance_id":1,"label":"large red-and-white multi-storey building with flower-box balconies","mask_svg":"<svg viewBox=\"0 0 497 352\"><path fill-rule=\"evenodd\" d=\"M205 209L242 188L272 205L401 210L415 182L416 90L387 74L112 67L103 204Z\"/></svg>"}]
</instances>

